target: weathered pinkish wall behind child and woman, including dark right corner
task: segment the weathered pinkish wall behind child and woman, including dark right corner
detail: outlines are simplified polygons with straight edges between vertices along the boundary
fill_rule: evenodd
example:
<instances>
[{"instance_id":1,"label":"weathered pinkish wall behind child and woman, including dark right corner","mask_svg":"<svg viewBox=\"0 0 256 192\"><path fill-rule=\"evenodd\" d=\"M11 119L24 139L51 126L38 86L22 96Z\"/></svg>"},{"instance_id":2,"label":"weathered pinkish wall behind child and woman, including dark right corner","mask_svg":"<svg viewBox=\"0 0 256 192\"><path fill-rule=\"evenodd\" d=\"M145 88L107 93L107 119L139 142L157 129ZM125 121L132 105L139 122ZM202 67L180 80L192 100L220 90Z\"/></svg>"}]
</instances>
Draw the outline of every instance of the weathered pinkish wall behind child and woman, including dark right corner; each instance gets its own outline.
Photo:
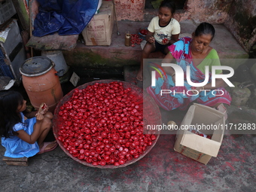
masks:
<instances>
[{"instance_id":1,"label":"weathered pinkish wall behind child and woman, including dark right corner","mask_svg":"<svg viewBox=\"0 0 256 192\"><path fill-rule=\"evenodd\" d=\"M145 0L114 0L117 20L150 21L157 10L145 9ZM256 0L187 0L178 21L223 24L248 52L256 40Z\"/></svg>"}]
</instances>

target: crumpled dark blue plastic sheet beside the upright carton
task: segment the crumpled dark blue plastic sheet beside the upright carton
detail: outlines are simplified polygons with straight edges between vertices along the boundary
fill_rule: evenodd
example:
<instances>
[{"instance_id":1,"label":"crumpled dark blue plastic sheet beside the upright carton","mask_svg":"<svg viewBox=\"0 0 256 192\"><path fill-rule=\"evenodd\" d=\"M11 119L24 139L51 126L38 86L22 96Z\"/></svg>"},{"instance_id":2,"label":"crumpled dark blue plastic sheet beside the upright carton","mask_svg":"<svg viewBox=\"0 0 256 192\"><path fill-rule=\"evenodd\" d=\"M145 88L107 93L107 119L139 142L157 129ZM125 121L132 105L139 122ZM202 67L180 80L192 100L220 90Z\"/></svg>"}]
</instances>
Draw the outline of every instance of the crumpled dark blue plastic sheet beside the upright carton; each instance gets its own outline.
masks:
<instances>
[{"instance_id":1,"label":"crumpled dark blue plastic sheet beside the upright carton","mask_svg":"<svg viewBox=\"0 0 256 192\"><path fill-rule=\"evenodd\" d=\"M90 23L99 0L38 0L33 35L78 35Z\"/></svg>"}]
</instances>

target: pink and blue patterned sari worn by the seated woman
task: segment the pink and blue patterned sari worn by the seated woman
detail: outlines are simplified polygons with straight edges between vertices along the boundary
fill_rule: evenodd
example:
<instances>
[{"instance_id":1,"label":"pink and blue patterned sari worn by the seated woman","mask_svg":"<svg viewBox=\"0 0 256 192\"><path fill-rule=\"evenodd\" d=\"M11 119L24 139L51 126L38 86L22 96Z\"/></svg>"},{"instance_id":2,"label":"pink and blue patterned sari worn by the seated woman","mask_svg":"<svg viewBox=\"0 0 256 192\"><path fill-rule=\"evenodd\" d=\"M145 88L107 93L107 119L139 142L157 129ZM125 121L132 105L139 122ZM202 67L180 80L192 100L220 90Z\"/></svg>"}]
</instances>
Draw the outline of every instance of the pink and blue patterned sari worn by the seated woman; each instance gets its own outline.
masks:
<instances>
[{"instance_id":1,"label":"pink and blue patterned sari worn by the seated woman","mask_svg":"<svg viewBox=\"0 0 256 192\"><path fill-rule=\"evenodd\" d=\"M157 105L168 111L175 108L185 110L190 102L197 102L207 106L213 106L217 103L230 105L231 97L224 87L218 87L215 90L201 91L197 94L192 93L191 89L193 88L190 84L187 84L186 79L187 66L190 66L190 80L194 83L203 82L206 75L194 66L192 56L190 55L190 42L191 38L181 38L175 44L169 46L170 53L172 53L172 56L176 59L178 66L181 66L183 69L184 87L175 87L172 76L166 75L163 70L159 69L159 72L162 74L156 73L156 86L148 87L148 93L154 98ZM212 59L212 66L215 66L214 61L215 59ZM209 72L208 83L211 82L211 77L211 72Z\"/></svg>"}]
</instances>

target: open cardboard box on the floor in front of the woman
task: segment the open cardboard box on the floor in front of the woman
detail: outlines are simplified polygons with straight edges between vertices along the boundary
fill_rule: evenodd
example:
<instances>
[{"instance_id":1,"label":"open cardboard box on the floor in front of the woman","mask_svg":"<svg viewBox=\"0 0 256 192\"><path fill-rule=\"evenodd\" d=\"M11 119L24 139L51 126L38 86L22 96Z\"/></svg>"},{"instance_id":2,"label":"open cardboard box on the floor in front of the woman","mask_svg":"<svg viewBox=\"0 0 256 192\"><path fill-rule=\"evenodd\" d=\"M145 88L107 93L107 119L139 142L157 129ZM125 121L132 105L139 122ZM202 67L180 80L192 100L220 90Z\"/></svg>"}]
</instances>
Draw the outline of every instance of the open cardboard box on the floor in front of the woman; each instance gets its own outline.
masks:
<instances>
[{"instance_id":1,"label":"open cardboard box on the floor in front of the woman","mask_svg":"<svg viewBox=\"0 0 256 192\"><path fill-rule=\"evenodd\" d=\"M224 136L224 114L205 105L191 105L177 132L174 150L200 163L207 164L211 157L217 157ZM201 133L212 139L198 136L184 128L201 128ZM206 126L208 129L206 129Z\"/></svg>"}]
</instances>

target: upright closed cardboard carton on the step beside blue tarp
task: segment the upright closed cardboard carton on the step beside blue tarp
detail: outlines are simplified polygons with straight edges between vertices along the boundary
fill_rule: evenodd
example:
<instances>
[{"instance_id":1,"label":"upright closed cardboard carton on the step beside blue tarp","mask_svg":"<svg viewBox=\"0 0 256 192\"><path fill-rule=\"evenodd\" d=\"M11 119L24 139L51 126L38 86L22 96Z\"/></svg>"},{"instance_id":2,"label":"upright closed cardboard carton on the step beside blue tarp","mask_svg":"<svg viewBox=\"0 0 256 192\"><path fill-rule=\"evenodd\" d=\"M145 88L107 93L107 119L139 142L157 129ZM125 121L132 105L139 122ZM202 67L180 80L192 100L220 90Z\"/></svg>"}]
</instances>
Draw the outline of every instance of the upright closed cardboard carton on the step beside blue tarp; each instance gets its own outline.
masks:
<instances>
[{"instance_id":1,"label":"upright closed cardboard carton on the step beside blue tarp","mask_svg":"<svg viewBox=\"0 0 256 192\"><path fill-rule=\"evenodd\" d=\"M102 2L99 13L95 14L84 28L82 35L86 45L110 45L114 26L113 2Z\"/></svg>"}]
</instances>

